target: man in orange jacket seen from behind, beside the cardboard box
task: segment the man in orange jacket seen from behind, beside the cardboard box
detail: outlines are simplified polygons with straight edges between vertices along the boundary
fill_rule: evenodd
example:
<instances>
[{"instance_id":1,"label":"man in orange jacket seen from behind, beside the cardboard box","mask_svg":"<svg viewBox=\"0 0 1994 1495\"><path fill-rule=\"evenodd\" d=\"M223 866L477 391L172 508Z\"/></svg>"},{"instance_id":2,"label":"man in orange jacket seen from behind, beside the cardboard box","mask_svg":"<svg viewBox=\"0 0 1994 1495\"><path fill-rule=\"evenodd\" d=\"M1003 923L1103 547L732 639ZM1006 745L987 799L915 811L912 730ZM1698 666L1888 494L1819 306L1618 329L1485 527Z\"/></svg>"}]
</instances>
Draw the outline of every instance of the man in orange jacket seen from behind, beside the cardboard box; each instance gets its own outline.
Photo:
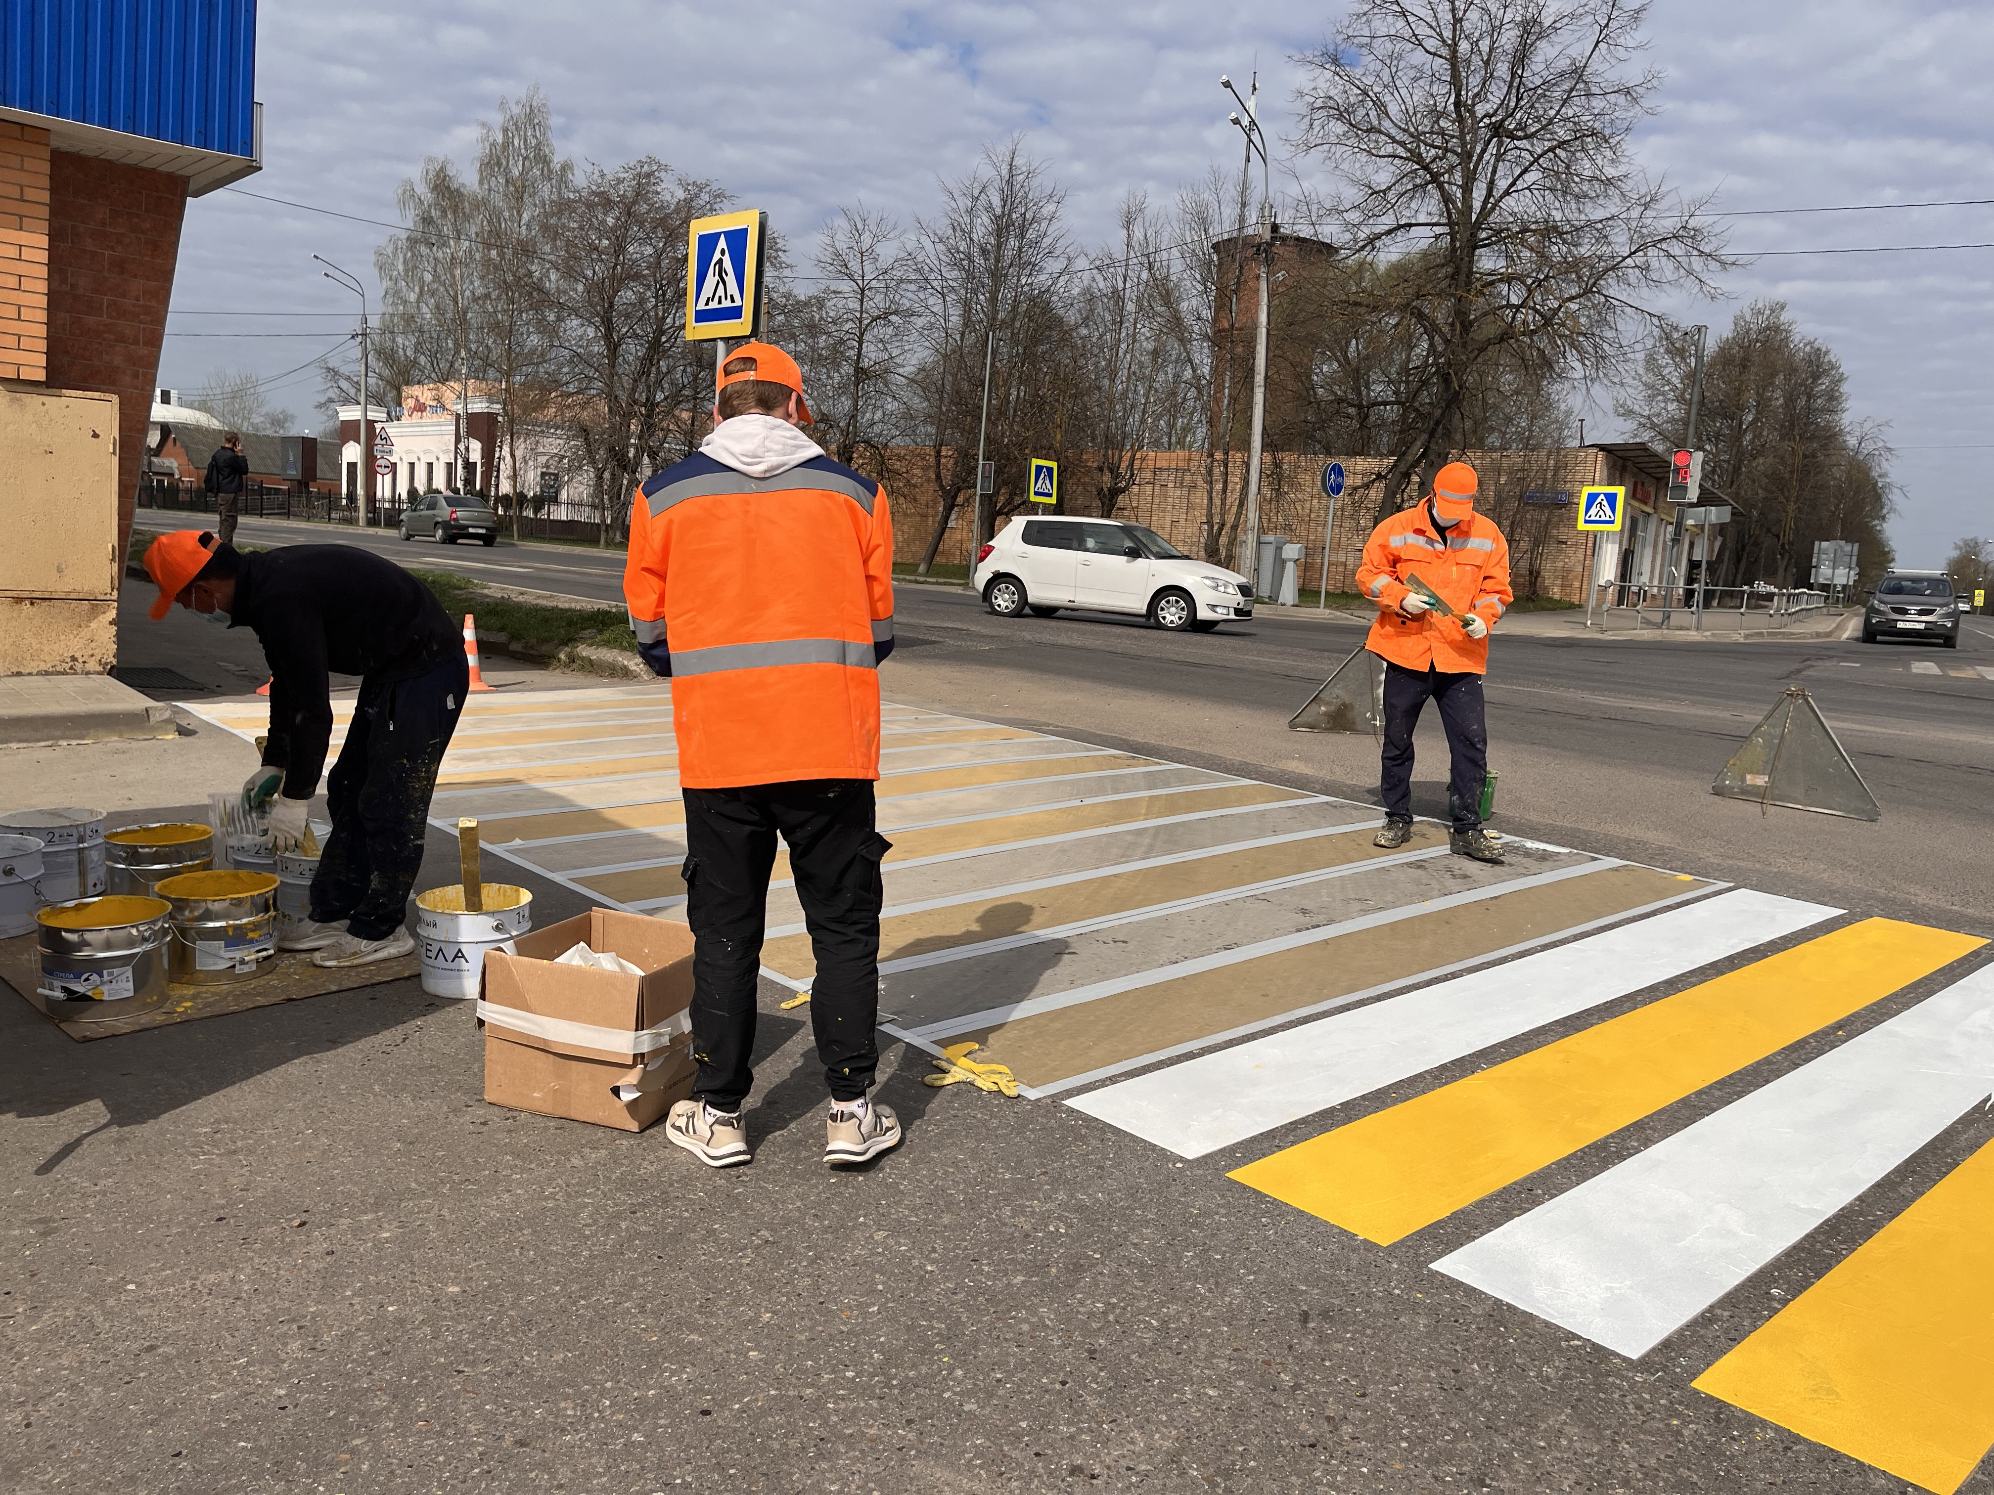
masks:
<instances>
[{"instance_id":1,"label":"man in orange jacket seen from behind, beside the cardboard box","mask_svg":"<svg viewBox=\"0 0 1994 1495\"><path fill-rule=\"evenodd\" d=\"M810 1017L831 1092L824 1160L899 1142L869 1102L879 1048L879 662L893 650L885 488L824 454L804 377L746 343L720 369L714 433L644 480L624 598L638 652L672 678L686 803L692 1052L666 1136L714 1168L750 1162L742 1102L776 837L816 953Z\"/></svg>"}]
</instances>

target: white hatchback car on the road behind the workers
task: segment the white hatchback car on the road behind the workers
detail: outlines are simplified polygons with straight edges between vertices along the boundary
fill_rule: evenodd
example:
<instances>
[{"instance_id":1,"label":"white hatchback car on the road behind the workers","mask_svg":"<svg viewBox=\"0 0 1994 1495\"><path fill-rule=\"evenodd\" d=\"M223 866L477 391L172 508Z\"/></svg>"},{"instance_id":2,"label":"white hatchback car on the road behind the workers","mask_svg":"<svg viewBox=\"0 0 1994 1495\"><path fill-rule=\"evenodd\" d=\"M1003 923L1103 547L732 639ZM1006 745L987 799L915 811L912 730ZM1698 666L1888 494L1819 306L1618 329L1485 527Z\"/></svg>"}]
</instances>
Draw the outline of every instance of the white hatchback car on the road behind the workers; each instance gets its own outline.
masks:
<instances>
[{"instance_id":1,"label":"white hatchback car on the road behind the workers","mask_svg":"<svg viewBox=\"0 0 1994 1495\"><path fill-rule=\"evenodd\" d=\"M969 582L999 618L1061 608L1147 616L1208 634L1252 618L1252 582L1192 560L1155 530L1111 518L1013 518L977 552Z\"/></svg>"}]
</instances>

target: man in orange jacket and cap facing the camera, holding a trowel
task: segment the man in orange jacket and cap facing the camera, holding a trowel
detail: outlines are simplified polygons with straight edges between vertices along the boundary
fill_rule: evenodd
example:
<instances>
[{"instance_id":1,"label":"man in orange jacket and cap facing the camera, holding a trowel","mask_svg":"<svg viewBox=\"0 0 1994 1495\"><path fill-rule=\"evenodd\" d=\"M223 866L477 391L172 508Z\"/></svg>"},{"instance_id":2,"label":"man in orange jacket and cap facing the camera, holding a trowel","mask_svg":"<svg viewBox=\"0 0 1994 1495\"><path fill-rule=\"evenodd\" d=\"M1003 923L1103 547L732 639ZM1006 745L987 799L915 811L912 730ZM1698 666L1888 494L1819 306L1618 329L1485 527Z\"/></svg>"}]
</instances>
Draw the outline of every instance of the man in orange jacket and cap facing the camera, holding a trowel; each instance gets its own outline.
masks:
<instances>
[{"instance_id":1,"label":"man in orange jacket and cap facing the camera, holding a trowel","mask_svg":"<svg viewBox=\"0 0 1994 1495\"><path fill-rule=\"evenodd\" d=\"M1386 821L1376 845L1412 837L1412 730L1432 698L1452 757L1456 855L1501 861L1482 829L1482 783L1490 734L1482 676L1490 668L1490 628L1515 596L1509 542L1476 512L1476 470L1448 462L1418 508L1392 514L1364 542L1358 590L1378 604L1364 646L1384 660L1384 773L1378 793ZM1438 602L1436 602L1438 598Z\"/></svg>"}]
</instances>

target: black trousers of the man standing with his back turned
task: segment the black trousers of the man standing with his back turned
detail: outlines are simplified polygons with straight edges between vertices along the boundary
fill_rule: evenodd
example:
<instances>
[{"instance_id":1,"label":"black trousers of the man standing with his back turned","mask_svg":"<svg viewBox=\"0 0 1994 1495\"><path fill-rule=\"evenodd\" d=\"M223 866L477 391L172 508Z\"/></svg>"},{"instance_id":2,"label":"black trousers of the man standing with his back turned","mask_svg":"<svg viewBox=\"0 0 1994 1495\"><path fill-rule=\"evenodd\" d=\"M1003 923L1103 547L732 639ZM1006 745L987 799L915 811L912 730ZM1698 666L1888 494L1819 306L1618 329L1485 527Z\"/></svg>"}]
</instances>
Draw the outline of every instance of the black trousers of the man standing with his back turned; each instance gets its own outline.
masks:
<instances>
[{"instance_id":1,"label":"black trousers of the man standing with his back turned","mask_svg":"<svg viewBox=\"0 0 1994 1495\"><path fill-rule=\"evenodd\" d=\"M754 1086L756 981L776 837L790 847L818 975L810 1025L833 1100L873 1082L879 1045L879 859L871 779L686 789L686 921L692 925L692 1092L740 1110Z\"/></svg>"}]
</instances>

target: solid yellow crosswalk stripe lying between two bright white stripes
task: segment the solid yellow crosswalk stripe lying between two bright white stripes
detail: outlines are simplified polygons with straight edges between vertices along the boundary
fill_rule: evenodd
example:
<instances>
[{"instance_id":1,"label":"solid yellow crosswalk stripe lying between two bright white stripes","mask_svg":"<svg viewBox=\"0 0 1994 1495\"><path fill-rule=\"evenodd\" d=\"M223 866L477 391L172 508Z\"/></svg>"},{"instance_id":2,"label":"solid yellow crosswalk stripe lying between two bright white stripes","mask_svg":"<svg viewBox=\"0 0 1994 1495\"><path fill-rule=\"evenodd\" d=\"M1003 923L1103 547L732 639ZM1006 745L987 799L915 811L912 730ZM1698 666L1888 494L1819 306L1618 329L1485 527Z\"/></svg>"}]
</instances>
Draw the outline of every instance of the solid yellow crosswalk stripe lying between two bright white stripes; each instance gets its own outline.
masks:
<instances>
[{"instance_id":1,"label":"solid yellow crosswalk stripe lying between two bright white stripes","mask_svg":"<svg viewBox=\"0 0 1994 1495\"><path fill-rule=\"evenodd\" d=\"M1984 943L1864 919L1230 1176L1390 1246Z\"/></svg>"}]
</instances>

